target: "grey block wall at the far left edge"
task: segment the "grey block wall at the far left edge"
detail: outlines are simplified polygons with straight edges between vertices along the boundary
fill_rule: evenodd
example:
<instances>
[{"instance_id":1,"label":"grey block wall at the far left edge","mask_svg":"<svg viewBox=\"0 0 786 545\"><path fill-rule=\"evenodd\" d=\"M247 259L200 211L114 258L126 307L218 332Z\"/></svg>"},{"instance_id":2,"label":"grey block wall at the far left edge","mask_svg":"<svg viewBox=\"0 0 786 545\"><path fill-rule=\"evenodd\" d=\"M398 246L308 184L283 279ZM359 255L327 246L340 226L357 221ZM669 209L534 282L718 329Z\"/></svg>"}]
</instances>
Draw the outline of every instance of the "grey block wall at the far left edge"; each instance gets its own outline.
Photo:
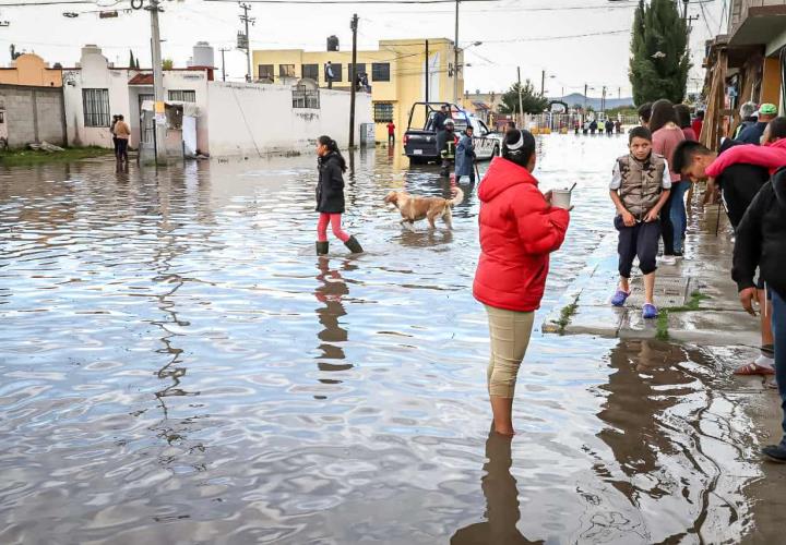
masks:
<instances>
[{"instance_id":1,"label":"grey block wall at the far left edge","mask_svg":"<svg viewBox=\"0 0 786 545\"><path fill-rule=\"evenodd\" d=\"M66 144L61 87L0 85L0 104L5 108L9 147L43 141Z\"/></svg>"}]
</instances>

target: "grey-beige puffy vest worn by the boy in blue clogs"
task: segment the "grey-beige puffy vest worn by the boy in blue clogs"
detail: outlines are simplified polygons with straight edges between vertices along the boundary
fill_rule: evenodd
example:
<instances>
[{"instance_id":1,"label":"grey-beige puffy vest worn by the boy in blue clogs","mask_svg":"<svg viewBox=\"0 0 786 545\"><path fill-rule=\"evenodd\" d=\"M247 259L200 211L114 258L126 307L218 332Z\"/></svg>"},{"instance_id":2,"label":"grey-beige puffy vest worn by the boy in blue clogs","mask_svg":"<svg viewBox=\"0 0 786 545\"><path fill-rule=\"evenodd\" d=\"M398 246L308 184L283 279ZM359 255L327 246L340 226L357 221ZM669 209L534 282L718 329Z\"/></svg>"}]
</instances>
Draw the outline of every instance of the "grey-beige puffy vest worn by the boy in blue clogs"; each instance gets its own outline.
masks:
<instances>
[{"instance_id":1,"label":"grey-beige puffy vest worn by the boy in blue clogs","mask_svg":"<svg viewBox=\"0 0 786 545\"><path fill-rule=\"evenodd\" d=\"M617 159L617 162L622 175L622 204L636 219L644 219L660 198L666 159L663 155L652 154L648 160L641 162L633 156L626 155Z\"/></svg>"}]
</instances>

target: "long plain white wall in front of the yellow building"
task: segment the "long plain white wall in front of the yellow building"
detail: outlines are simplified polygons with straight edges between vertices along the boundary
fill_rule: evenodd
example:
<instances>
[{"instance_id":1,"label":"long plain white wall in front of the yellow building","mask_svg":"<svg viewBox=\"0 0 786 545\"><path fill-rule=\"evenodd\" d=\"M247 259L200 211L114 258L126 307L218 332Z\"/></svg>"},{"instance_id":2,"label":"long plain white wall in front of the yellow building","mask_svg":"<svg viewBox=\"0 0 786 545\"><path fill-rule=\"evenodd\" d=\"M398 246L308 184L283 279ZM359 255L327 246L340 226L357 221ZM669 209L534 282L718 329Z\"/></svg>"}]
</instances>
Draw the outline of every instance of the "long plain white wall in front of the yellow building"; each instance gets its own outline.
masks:
<instances>
[{"instance_id":1,"label":"long plain white wall in front of the yellow building","mask_svg":"<svg viewBox=\"0 0 786 545\"><path fill-rule=\"evenodd\" d=\"M322 134L340 146L349 141L349 93L320 89L319 109L294 109L291 87L258 83L209 83L212 156L303 150ZM355 142L360 123L371 123L371 96L357 94Z\"/></svg>"}]
</instances>

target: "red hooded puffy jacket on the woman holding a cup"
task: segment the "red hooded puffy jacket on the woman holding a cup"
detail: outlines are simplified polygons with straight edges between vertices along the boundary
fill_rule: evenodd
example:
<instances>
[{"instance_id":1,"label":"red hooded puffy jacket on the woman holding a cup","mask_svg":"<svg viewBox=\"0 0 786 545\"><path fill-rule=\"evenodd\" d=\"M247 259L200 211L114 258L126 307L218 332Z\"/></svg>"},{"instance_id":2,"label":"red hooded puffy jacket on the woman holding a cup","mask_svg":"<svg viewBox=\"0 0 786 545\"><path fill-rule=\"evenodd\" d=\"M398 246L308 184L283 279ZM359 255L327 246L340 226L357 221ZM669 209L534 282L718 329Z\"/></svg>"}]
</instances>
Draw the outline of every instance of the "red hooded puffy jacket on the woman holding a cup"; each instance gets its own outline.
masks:
<instances>
[{"instance_id":1,"label":"red hooded puffy jacket on the woman holding a cup","mask_svg":"<svg viewBox=\"0 0 786 545\"><path fill-rule=\"evenodd\" d=\"M570 215L550 206L537 180L497 157L480 184L480 261L475 299L489 306L531 312L540 307L549 254L562 245Z\"/></svg>"}]
</instances>

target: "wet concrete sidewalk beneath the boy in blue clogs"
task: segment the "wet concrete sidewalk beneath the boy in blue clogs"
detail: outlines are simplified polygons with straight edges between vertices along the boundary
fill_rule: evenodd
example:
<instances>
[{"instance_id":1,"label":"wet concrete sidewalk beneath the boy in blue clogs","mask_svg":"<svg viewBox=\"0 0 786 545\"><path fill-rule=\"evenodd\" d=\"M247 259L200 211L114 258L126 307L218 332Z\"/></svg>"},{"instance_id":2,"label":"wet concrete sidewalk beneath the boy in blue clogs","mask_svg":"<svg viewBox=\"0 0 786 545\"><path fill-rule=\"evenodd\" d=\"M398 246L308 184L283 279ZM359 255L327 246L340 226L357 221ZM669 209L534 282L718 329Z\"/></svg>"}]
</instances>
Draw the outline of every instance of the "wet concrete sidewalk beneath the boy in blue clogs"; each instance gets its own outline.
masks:
<instances>
[{"instance_id":1,"label":"wet concrete sidewalk beneath the boy in blue clogs","mask_svg":"<svg viewBox=\"0 0 786 545\"><path fill-rule=\"evenodd\" d=\"M759 319L742 311L737 286L731 280L734 242L725 213L718 218L718 208L711 206L694 209L692 216L686 258L677 265L658 264L657 319L642 318L643 284L635 266L626 306L617 308L610 304L619 280L615 231L603 239L560 304L547 316L543 331L759 347Z\"/></svg>"}]
</instances>

